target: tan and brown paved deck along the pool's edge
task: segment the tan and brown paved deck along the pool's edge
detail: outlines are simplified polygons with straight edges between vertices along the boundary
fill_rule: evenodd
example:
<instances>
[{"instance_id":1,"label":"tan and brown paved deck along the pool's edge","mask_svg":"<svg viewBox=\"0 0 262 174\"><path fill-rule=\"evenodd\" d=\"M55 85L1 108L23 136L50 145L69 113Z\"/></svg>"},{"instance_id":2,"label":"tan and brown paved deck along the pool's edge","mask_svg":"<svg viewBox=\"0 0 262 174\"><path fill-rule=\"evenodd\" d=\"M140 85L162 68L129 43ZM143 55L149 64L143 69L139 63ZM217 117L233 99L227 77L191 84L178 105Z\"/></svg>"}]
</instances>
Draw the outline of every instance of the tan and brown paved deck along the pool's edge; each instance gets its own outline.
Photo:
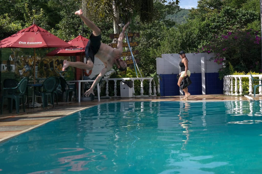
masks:
<instances>
[{"instance_id":1,"label":"tan and brown paved deck along the pool's edge","mask_svg":"<svg viewBox=\"0 0 262 174\"><path fill-rule=\"evenodd\" d=\"M26 108L25 112L20 108L20 114L9 113L7 109L3 110L0 115L0 142L6 141L24 132L30 131L36 127L48 123L49 121L65 117L83 109L105 103L117 101L239 101L248 100L244 96L227 96L227 95L191 95L187 100L181 100L184 96L168 96L168 97L137 97L137 98L112 98L103 99L100 102L85 101L81 103L68 102L58 103L55 107L48 106L47 108ZM262 100L261 96L257 96L255 100Z\"/></svg>"}]
</instances>

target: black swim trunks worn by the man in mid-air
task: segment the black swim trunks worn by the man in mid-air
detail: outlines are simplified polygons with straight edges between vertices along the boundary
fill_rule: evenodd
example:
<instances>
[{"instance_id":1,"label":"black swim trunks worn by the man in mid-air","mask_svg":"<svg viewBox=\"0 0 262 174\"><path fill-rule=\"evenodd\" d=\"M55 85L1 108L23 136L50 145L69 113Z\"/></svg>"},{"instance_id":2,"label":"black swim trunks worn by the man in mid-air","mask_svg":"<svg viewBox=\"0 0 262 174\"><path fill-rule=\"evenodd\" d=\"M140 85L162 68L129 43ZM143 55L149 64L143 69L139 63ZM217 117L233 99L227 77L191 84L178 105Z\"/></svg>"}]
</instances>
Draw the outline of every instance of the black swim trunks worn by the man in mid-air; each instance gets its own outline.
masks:
<instances>
[{"instance_id":1,"label":"black swim trunks worn by the man in mid-air","mask_svg":"<svg viewBox=\"0 0 262 174\"><path fill-rule=\"evenodd\" d=\"M98 52L101 45L101 34L99 36L94 36L93 33L89 37L89 41L85 47L85 57L91 58L92 62L95 61L95 54Z\"/></svg>"}]
</instances>

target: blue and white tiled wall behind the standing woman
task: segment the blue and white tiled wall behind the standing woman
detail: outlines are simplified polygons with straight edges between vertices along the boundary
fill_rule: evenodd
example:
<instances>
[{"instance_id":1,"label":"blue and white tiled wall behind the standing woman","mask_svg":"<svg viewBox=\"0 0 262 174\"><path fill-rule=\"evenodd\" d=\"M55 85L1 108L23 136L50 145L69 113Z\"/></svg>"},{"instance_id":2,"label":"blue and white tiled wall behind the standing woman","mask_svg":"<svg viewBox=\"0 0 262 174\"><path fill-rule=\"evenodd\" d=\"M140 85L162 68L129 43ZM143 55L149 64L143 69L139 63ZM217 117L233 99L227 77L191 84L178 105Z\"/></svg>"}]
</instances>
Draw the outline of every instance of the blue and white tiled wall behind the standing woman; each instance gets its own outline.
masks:
<instances>
[{"instance_id":1,"label":"blue and white tiled wall behind the standing woman","mask_svg":"<svg viewBox=\"0 0 262 174\"><path fill-rule=\"evenodd\" d=\"M191 72L192 84L188 87L191 95L223 94L223 80L218 78L218 69L214 61L208 61L214 54L186 53L188 69ZM161 96L183 95L183 91L177 85L177 74L181 72L179 54L162 54L162 58L156 58L156 73L160 74Z\"/></svg>"}]
</instances>

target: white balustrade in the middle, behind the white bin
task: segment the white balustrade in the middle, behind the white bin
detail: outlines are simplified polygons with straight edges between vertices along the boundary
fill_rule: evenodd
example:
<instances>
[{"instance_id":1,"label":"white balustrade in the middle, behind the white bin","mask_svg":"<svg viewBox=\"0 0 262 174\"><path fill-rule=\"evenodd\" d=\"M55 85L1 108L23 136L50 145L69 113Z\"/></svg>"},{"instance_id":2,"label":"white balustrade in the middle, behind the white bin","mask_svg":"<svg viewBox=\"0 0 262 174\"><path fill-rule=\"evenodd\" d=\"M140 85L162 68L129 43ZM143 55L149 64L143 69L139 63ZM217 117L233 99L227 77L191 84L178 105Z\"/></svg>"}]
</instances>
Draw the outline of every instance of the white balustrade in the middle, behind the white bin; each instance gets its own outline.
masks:
<instances>
[{"instance_id":1,"label":"white balustrade in the middle, behind the white bin","mask_svg":"<svg viewBox=\"0 0 262 174\"><path fill-rule=\"evenodd\" d=\"M147 77L147 78L104 78L102 79L103 82L101 85L100 85L100 92L101 92L101 86L105 86L105 94L106 94L106 97L109 97L109 91L108 91L108 82L110 80L113 80L114 81L114 96L112 96L113 98L116 98L116 97L121 97L121 96L117 96L117 81L126 81L126 80L131 80L133 82L133 87L132 87L132 90L133 90L133 97L154 97L154 96L157 96L156 95L156 92L158 92L160 94L160 87L159 85L156 86L156 82L153 80L153 78L150 78L150 77ZM141 84L140 84L140 95L134 95L135 94L135 86L134 86L134 81L135 80L140 80L141 81ZM144 95L144 81L145 80L148 80L149 81L149 89L148 89L148 93L149 95ZM160 80L158 79L158 84L159 84ZM153 83L153 84L152 84ZM153 92L152 92L152 86L153 86ZM100 97L103 97L100 95Z\"/></svg>"}]
</instances>

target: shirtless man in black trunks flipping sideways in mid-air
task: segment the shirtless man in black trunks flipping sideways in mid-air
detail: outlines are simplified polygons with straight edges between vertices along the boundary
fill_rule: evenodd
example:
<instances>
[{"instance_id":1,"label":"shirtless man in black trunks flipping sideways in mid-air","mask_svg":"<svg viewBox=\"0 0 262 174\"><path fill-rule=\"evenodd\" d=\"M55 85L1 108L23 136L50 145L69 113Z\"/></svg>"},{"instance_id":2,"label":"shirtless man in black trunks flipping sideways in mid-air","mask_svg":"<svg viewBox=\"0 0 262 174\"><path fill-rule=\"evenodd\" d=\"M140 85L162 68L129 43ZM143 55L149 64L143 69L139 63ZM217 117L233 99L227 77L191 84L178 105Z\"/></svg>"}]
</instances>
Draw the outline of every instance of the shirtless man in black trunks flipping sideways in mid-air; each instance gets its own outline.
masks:
<instances>
[{"instance_id":1,"label":"shirtless man in black trunks flipping sideways in mid-air","mask_svg":"<svg viewBox=\"0 0 262 174\"><path fill-rule=\"evenodd\" d=\"M100 81L100 79L103 76L105 76L105 74L108 71L112 69L114 64L116 64L116 66L118 67L120 71L124 71L127 68L127 64L123 60L120 59L120 56L122 55L122 52L123 52L123 40L125 37L124 33L125 33L127 26L129 25L129 22L125 24L122 32L119 34L117 49L114 49L114 48L111 48L107 44L101 43L100 28L98 28L88 18L83 16L82 9L76 11L75 14L78 15L91 30L93 30L92 34L90 35L88 44L86 45L86 48L85 48L86 63L69 62L67 60L64 60L62 71L64 71L65 68L67 68L68 66L91 70L94 66L95 57L100 59L104 63L105 67L101 70L100 74L96 77L91 88L85 92L84 95L89 96L90 94L94 94L95 86Z\"/></svg>"}]
</instances>

